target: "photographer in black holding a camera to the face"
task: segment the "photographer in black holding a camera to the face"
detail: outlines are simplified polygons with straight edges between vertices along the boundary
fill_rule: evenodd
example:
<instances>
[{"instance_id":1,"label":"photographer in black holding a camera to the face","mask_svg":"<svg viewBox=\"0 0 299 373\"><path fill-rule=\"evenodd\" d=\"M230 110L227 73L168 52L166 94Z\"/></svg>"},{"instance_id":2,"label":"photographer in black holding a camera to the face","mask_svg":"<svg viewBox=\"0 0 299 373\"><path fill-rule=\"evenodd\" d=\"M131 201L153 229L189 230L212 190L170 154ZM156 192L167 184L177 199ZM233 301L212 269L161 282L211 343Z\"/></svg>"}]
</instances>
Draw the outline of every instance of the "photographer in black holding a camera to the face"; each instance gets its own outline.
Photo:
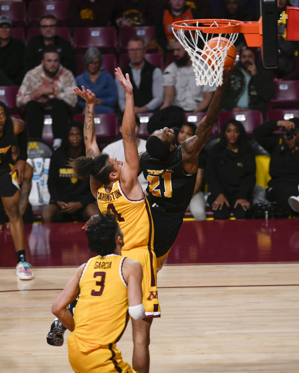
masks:
<instances>
[{"instance_id":1,"label":"photographer in black holding a camera to the face","mask_svg":"<svg viewBox=\"0 0 299 373\"><path fill-rule=\"evenodd\" d=\"M270 120L257 126L253 135L271 156L267 199L292 208L289 198L298 195L299 185L299 118Z\"/></svg>"}]
</instances>

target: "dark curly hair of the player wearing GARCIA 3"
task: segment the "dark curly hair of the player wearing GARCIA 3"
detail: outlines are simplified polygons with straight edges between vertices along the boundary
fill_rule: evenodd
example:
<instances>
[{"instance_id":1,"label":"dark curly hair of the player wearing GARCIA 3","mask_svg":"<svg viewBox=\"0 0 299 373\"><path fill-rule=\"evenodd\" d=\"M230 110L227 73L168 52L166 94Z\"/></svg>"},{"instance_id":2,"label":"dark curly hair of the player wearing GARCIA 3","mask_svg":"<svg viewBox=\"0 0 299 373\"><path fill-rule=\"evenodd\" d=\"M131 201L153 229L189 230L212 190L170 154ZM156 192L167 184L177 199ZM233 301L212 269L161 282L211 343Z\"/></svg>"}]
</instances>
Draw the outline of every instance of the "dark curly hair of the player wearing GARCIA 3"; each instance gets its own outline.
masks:
<instances>
[{"instance_id":1,"label":"dark curly hair of the player wearing GARCIA 3","mask_svg":"<svg viewBox=\"0 0 299 373\"><path fill-rule=\"evenodd\" d=\"M88 247L92 253L100 256L113 254L116 248L115 238L120 228L117 216L111 213L100 213L95 216L86 229Z\"/></svg>"}]
</instances>

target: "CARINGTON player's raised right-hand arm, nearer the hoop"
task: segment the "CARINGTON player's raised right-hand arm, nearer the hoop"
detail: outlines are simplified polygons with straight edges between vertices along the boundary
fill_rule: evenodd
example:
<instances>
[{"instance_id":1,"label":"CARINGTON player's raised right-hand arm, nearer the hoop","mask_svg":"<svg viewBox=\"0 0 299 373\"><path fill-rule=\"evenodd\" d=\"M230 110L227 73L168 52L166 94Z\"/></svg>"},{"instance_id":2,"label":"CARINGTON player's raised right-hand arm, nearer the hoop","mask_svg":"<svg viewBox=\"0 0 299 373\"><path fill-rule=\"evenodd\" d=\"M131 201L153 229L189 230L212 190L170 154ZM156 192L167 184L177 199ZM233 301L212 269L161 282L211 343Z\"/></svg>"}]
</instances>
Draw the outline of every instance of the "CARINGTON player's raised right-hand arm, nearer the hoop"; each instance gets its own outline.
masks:
<instances>
[{"instance_id":1,"label":"CARINGTON player's raised right-hand arm, nearer the hoop","mask_svg":"<svg viewBox=\"0 0 299 373\"><path fill-rule=\"evenodd\" d=\"M123 186L126 189L126 192L129 192L135 185L139 184L140 186L140 183L138 181L139 155L136 142L133 87L130 82L129 74L126 74L125 78L123 76L123 73L121 72L121 69L117 68L115 69L115 75L126 91L126 106L124 109L123 123L121 125L121 134L123 135L124 143L124 156L126 158L126 161L122 166L120 181L123 182ZM138 192L138 190L135 190L135 192ZM140 195L139 197L143 197L143 192L142 195ZM139 197L136 196L136 198Z\"/></svg>"}]
</instances>

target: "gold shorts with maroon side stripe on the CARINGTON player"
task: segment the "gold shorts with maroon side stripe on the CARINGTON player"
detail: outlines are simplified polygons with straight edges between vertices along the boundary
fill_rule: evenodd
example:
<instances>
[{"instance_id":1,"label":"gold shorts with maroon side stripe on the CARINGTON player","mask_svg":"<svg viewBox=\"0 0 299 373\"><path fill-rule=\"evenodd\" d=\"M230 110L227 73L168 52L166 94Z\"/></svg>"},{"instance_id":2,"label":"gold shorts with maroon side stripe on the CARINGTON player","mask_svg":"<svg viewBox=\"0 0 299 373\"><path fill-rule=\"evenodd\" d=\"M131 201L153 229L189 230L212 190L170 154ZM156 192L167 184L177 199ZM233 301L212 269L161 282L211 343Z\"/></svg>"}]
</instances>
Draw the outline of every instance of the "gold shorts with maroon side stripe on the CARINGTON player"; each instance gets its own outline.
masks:
<instances>
[{"instance_id":1,"label":"gold shorts with maroon side stripe on the CARINGTON player","mask_svg":"<svg viewBox=\"0 0 299 373\"><path fill-rule=\"evenodd\" d=\"M145 317L160 317L161 309L157 291L157 259L153 250L131 249L121 252L127 258L138 260L143 269L142 303L145 308Z\"/></svg>"}]
</instances>

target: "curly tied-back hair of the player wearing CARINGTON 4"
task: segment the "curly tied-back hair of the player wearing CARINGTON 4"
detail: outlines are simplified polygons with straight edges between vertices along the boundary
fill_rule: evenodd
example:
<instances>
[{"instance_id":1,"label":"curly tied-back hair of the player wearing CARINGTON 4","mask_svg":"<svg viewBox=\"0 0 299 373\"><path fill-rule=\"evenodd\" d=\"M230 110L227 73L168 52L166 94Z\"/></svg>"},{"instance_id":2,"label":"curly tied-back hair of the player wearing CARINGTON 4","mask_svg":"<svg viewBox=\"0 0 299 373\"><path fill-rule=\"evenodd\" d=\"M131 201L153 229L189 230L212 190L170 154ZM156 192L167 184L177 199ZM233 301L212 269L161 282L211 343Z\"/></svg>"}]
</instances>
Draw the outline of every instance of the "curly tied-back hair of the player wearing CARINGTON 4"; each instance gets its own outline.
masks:
<instances>
[{"instance_id":1,"label":"curly tied-back hair of the player wearing CARINGTON 4","mask_svg":"<svg viewBox=\"0 0 299 373\"><path fill-rule=\"evenodd\" d=\"M70 159L68 165L74 169L75 178L84 180L92 175L104 185L110 183L109 175L115 171L113 164L109 162L109 155L105 153L94 159L90 157Z\"/></svg>"}]
</instances>

